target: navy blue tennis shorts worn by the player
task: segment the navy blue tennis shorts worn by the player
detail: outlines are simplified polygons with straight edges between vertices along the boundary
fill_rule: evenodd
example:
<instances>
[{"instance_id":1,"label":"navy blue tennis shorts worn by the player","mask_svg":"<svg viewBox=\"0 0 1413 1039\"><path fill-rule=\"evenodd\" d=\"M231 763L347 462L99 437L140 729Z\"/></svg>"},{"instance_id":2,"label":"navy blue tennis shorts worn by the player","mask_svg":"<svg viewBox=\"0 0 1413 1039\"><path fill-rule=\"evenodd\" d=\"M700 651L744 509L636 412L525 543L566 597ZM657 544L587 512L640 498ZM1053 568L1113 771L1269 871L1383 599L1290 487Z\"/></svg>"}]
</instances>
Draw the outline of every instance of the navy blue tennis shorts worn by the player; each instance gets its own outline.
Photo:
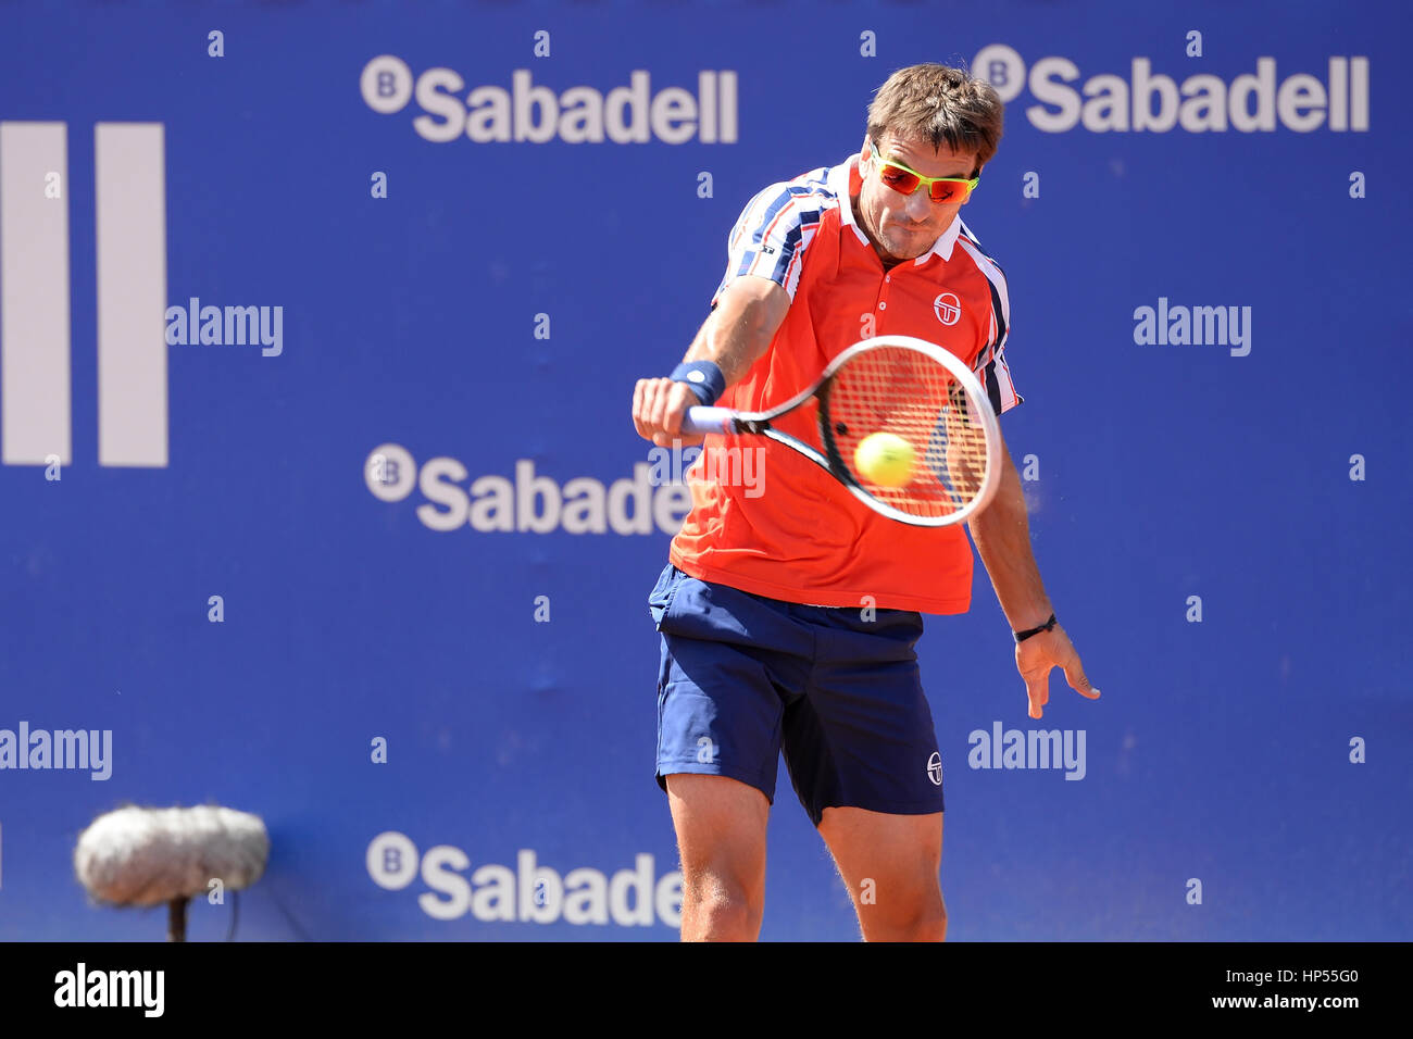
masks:
<instances>
[{"instance_id":1,"label":"navy blue tennis shorts worn by the player","mask_svg":"<svg viewBox=\"0 0 1413 1039\"><path fill-rule=\"evenodd\" d=\"M942 810L942 759L923 695L923 618L804 606L668 564L649 597L663 639L657 783L729 776L774 803L781 751L815 826L828 807Z\"/></svg>"}]
</instances>

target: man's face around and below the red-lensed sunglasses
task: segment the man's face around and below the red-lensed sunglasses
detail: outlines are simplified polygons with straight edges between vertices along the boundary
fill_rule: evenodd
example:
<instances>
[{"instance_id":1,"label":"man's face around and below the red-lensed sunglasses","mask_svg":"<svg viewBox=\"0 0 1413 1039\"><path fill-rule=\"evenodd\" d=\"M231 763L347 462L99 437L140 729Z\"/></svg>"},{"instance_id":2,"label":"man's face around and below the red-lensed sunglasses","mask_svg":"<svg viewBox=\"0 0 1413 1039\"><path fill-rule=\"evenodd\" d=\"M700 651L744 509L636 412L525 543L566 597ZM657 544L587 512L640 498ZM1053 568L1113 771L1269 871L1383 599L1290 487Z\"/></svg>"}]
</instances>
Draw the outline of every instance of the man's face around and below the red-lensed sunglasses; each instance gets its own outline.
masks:
<instances>
[{"instance_id":1,"label":"man's face around and below the red-lensed sunglasses","mask_svg":"<svg viewBox=\"0 0 1413 1039\"><path fill-rule=\"evenodd\" d=\"M877 139L882 158L897 160L924 177L971 177L976 153L952 151L945 143L933 148L931 141L896 136L892 130ZM868 155L865 161L863 155ZM887 260L911 260L921 256L941 237L965 202L934 202L927 188L903 195L879 178L879 155L865 141L859 157L859 218L873 247Z\"/></svg>"}]
</instances>

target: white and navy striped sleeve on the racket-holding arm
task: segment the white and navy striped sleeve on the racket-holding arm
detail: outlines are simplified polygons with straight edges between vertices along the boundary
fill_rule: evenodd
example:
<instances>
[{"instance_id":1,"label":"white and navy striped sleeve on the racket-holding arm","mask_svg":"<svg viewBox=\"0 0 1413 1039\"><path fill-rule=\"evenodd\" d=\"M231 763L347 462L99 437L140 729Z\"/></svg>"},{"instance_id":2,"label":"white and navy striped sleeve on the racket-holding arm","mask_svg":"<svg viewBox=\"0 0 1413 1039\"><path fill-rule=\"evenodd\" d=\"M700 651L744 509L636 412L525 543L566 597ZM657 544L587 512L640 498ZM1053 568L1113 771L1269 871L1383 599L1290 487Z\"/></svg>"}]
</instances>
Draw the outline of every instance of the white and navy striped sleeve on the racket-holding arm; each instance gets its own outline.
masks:
<instances>
[{"instance_id":1,"label":"white and navy striped sleeve on the racket-holding arm","mask_svg":"<svg viewBox=\"0 0 1413 1039\"><path fill-rule=\"evenodd\" d=\"M742 274L770 278L794 300L804 254L820 229L820 218L834 205L825 187L827 168L757 192L726 239L726 273L712 294L715 307L726 286Z\"/></svg>"}]
</instances>

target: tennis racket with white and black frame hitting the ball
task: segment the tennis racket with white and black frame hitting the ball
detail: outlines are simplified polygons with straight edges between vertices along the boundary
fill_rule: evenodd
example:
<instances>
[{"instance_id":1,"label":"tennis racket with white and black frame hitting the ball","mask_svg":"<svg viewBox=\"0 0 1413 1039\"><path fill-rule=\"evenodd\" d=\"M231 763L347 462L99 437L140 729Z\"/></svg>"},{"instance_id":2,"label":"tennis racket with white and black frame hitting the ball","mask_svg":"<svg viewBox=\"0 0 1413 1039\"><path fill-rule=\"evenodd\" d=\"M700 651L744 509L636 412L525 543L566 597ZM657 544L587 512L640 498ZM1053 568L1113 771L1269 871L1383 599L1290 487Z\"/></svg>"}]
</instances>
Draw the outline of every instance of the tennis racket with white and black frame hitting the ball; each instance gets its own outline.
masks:
<instances>
[{"instance_id":1,"label":"tennis racket with white and black frame hitting the ball","mask_svg":"<svg viewBox=\"0 0 1413 1039\"><path fill-rule=\"evenodd\" d=\"M771 423L798 407L818 404L820 444L780 431ZM829 362L814 386L767 411L691 407L682 433L769 437L798 451L875 512L920 527L965 523L985 509L1000 485L1000 427L981 383L941 346L906 335L865 339ZM892 434L911 450L911 465L870 481L859 465L859 445ZM897 448L897 441L879 438ZM903 451L906 458L906 451ZM862 468L868 465L865 447Z\"/></svg>"}]
</instances>

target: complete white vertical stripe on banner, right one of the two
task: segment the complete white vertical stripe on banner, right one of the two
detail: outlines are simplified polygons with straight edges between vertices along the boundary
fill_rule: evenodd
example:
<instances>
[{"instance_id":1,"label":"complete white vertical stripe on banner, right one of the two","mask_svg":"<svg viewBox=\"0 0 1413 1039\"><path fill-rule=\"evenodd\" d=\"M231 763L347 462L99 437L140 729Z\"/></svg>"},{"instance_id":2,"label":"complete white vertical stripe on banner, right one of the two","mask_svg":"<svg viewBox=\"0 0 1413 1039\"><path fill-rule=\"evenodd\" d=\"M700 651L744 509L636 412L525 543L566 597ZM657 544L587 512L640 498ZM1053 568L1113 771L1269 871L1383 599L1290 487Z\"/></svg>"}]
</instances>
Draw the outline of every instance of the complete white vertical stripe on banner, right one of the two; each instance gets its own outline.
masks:
<instances>
[{"instance_id":1,"label":"complete white vertical stripe on banner, right one of the two","mask_svg":"<svg viewBox=\"0 0 1413 1039\"><path fill-rule=\"evenodd\" d=\"M167 465L167 187L161 123L99 123L97 458Z\"/></svg>"}]
</instances>

